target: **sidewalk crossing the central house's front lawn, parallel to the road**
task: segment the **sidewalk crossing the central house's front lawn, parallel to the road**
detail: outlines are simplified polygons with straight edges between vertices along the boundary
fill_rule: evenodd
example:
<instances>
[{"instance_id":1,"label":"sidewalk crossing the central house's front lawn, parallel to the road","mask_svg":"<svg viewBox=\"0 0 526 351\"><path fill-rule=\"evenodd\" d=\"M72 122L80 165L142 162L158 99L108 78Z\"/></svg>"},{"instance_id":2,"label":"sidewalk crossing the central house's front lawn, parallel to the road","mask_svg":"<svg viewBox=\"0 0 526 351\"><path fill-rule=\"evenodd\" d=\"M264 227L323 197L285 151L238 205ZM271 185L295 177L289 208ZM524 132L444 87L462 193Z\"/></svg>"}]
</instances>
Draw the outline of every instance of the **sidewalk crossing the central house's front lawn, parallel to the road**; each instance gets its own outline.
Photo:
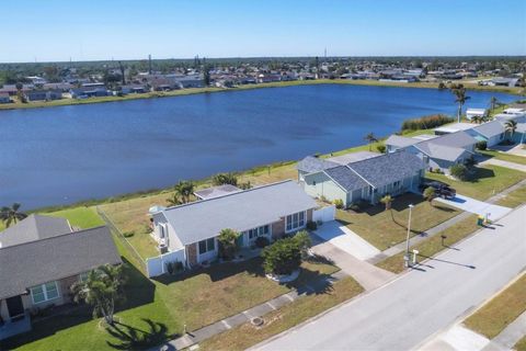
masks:
<instances>
[{"instance_id":1,"label":"sidewalk crossing the central house's front lawn, parallel to the road","mask_svg":"<svg viewBox=\"0 0 526 351\"><path fill-rule=\"evenodd\" d=\"M300 296L321 292L327 287L328 284L332 284L335 281L339 281L345 276L347 276L345 272L338 271L331 274L329 278L322 278L318 281L305 283L299 290L293 288L293 291L283 294L276 298L270 299L263 304L243 310L242 313L216 321L209 326L203 327L192 332L186 332L186 335L184 335L183 337L170 340L164 344L151 348L149 349L149 351L182 350L185 348L190 348L193 344L211 338L215 335L221 333L244 322L248 322L252 320L252 318L262 317L273 310L278 309L282 306L288 305L295 302Z\"/></svg>"}]
</instances>

